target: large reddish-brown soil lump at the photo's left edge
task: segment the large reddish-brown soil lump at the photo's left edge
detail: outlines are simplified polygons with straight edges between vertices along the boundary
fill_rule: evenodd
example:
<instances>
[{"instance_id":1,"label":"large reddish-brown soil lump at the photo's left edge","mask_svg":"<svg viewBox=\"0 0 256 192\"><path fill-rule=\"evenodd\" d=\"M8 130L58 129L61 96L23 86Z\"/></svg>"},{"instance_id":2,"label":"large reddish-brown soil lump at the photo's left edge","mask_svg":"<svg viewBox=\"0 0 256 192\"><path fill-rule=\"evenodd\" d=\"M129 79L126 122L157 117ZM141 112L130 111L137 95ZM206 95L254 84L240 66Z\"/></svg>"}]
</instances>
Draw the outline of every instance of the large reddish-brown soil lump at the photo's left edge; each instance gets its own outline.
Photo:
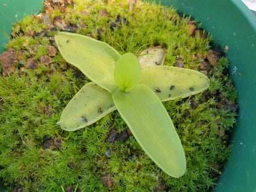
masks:
<instances>
[{"instance_id":1,"label":"large reddish-brown soil lump at the photo's left edge","mask_svg":"<svg viewBox=\"0 0 256 192\"><path fill-rule=\"evenodd\" d=\"M15 71L15 63L18 63L16 59L17 50L10 48L0 55L0 61L2 63L2 74L7 76Z\"/></svg>"}]
</instances>

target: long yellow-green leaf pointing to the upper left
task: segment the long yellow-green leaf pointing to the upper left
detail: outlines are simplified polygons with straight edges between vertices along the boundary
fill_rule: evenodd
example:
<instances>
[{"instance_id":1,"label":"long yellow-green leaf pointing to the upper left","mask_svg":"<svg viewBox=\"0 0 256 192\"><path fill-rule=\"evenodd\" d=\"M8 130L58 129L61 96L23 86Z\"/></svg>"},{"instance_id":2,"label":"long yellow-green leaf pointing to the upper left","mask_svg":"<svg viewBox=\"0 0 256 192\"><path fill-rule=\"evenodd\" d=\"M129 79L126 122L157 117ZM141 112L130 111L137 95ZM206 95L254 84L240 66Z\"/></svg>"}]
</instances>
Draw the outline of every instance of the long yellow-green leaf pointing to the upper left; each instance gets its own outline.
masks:
<instances>
[{"instance_id":1,"label":"long yellow-green leaf pointing to the upper left","mask_svg":"<svg viewBox=\"0 0 256 192\"><path fill-rule=\"evenodd\" d=\"M121 55L113 47L87 36L65 32L57 33L55 42L63 58L98 86L111 93L118 88L114 82L114 65Z\"/></svg>"}]
</instances>

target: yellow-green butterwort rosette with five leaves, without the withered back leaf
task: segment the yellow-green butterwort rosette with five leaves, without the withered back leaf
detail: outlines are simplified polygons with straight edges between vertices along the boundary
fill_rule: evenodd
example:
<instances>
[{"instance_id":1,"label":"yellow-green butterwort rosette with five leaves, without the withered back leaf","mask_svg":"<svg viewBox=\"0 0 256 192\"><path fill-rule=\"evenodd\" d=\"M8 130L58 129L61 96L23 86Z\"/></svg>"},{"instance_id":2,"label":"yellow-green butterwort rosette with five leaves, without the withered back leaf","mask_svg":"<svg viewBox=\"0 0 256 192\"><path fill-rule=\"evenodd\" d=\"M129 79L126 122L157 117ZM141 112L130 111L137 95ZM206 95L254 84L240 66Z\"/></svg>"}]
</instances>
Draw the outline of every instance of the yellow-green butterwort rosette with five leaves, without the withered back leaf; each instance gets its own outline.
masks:
<instances>
[{"instance_id":1,"label":"yellow-green butterwort rosette with five leaves, without the withered back leaf","mask_svg":"<svg viewBox=\"0 0 256 192\"><path fill-rule=\"evenodd\" d=\"M174 66L142 68L134 54L120 55L105 42L81 34L60 32L55 41L66 62L92 80L63 110L62 129L81 129L118 110L155 164L166 174L181 177L185 153L162 101L202 92L209 86L207 76Z\"/></svg>"}]
</instances>

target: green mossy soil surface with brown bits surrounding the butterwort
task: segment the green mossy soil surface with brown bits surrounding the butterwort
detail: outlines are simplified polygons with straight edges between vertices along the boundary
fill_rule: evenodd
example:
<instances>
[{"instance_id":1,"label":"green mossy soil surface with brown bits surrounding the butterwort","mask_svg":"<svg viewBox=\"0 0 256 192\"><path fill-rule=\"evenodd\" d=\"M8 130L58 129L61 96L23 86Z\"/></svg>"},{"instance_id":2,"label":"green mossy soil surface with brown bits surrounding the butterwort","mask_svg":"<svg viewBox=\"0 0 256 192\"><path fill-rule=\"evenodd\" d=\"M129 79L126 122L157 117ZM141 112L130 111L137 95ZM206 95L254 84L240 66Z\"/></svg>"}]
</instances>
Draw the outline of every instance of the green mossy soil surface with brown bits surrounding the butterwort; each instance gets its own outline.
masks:
<instances>
[{"instance_id":1,"label":"green mossy soil surface with brown bits surrounding the butterwort","mask_svg":"<svg viewBox=\"0 0 256 192\"><path fill-rule=\"evenodd\" d=\"M85 129L60 129L63 109L90 80L62 58L57 31L104 41L121 54L161 45L164 65L209 76L203 93L164 102L185 150L183 177L162 172L117 111ZM2 185L7 191L208 191L230 157L238 110L228 60L209 44L199 23L153 2L45 1L41 14L15 23L0 56Z\"/></svg>"}]
</instances>

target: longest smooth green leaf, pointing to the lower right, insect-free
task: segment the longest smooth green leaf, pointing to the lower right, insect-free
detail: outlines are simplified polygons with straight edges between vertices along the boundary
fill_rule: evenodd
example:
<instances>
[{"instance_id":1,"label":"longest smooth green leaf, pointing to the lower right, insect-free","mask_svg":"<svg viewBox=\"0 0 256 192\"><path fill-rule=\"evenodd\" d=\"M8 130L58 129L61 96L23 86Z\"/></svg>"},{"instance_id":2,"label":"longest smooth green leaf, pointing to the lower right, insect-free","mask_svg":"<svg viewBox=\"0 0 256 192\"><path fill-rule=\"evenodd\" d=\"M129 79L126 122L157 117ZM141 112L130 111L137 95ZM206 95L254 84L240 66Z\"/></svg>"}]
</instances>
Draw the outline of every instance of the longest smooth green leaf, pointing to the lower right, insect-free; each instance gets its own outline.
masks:
<instances>
[{"instance_id":1,"label":"longest smooth green leaf, pointing to the lower right, insect-free","mask_svg":"<svg viewBox=\"0 0 256 192\"><path fill-rule=\"evenodd\" d=\"M145 85L137 85L129 92L117 89L113 100L146 154L167 174L181 177L186 169L182 144L156 94Z\"/></svg>"}]
</instances>

